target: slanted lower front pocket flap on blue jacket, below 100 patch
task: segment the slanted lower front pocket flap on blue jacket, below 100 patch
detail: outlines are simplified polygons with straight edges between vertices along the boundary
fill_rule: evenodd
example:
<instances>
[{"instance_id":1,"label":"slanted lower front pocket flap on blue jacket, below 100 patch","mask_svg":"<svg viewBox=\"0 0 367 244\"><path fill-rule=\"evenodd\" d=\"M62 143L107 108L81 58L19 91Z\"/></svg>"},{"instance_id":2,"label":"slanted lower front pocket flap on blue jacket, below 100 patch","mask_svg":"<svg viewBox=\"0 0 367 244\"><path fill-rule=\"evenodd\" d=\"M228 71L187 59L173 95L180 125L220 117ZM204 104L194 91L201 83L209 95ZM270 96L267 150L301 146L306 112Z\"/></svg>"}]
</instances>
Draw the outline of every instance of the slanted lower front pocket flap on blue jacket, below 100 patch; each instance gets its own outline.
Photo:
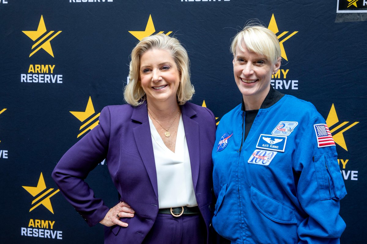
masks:
<instances>
[{"instance_id":1,"label":"slanted lower front pocket flap on blue jacket, below 100 patch","mask_svg":"<svg viewBox=\"0 0 367 244\"><path fill-rule=\"evenodd\" d=\"M251 187L251 201L255 207L272 221L282 224L295 224L297 219L294 210L277 200L266 196Z\"/></svg>"}]
</instances>

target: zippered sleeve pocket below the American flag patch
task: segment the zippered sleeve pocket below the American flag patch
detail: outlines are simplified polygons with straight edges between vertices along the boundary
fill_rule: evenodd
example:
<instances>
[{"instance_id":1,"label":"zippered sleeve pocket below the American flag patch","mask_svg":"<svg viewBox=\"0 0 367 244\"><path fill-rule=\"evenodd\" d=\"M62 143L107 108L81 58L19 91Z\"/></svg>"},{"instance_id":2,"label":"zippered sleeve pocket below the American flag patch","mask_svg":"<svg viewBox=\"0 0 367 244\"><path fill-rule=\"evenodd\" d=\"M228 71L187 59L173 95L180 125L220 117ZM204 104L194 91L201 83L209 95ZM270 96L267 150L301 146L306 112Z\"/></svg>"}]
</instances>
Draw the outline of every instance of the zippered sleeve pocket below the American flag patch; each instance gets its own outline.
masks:
<instances>
[{"instance_id":1,"label":"zippered sleeve pocket below the American flag patch","mask_svg":"<svg viewBox=\"0 0 367 244\"><path fill-rule=\"evenodd\" d=\"M329 153L313 157L320 200L341 200L346 189L338 165L337 154Z\"/></svg>"}]
</instances>

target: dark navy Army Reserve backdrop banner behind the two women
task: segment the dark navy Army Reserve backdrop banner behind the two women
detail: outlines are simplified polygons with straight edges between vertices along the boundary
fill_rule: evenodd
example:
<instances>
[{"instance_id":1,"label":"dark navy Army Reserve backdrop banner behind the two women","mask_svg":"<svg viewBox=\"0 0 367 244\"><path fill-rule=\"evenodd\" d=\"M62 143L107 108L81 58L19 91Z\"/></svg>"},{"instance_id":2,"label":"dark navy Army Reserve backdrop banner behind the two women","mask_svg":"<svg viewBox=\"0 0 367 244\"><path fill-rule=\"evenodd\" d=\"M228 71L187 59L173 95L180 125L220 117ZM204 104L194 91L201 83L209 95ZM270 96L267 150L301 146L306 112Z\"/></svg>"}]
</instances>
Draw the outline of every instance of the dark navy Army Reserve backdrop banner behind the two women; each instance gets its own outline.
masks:
<instances>
[{"instance_id":1,"label":"dark navy Army Reserve backdrop banner behind the two women","mask_svg":"<svg viewBox=\"0 0 367 244\"><path fill-rule=\"evenodd\" d=\"M219 123L241 102L231 38L256 18L280 41L272 86L312 102L337 144L348 191L341 242L364 243L366 12L366 0L0 0L1 242L102 243L103 226L87 226L51 172L104 106L124 103L132 48L155 33L177 37L191 61L192 102ZM116 204L105 161L86 181Z\"/></svg>"}]
</instances>

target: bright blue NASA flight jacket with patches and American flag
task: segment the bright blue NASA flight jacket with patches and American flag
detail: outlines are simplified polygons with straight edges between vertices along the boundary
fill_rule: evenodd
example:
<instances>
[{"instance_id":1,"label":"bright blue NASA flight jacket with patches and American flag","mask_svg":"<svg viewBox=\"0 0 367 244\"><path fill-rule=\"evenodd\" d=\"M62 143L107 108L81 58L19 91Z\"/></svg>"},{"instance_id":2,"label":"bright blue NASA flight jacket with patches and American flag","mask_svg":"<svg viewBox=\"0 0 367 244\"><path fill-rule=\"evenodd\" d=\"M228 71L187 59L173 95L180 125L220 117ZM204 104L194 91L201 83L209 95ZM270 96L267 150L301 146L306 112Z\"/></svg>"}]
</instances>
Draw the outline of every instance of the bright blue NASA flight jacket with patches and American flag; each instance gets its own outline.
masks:
<instances>
[{"instance_id":1,"label":"bright blue NASA flight jacket with patches and American flag","mask_svg":"<svg viewBox=\"0 0 367 244\"><path fill-rule=\"evenodd\" d=\"M214 229L232 243L339 243L346 190L323 117L272 88L243 141L245 116L238 105L217 128Z\"/></svg>"}]
</instances>

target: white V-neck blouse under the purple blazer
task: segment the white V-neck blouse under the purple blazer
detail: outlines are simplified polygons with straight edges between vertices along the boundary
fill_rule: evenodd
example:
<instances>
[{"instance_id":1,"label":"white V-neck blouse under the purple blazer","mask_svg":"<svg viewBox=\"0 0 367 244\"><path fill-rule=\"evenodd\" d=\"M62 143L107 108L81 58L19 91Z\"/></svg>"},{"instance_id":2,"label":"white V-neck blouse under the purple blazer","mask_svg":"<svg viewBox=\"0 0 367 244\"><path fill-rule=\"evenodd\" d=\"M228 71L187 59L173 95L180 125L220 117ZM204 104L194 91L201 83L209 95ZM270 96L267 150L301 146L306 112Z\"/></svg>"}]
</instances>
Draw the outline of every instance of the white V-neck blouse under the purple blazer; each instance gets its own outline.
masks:
<instances>
[{"instance_id":1,"label":"white V-neck blouse under the purple blazer","mask_svg":"<svg viewBox=\"0 0 367 244\"><path fill-rule=\"evenodd\" d=\"M175 153L164 144L150 117L149 125L156 162L159 208L197 206L182 115L177 129Z\"/></svg>"}]
</instances>

